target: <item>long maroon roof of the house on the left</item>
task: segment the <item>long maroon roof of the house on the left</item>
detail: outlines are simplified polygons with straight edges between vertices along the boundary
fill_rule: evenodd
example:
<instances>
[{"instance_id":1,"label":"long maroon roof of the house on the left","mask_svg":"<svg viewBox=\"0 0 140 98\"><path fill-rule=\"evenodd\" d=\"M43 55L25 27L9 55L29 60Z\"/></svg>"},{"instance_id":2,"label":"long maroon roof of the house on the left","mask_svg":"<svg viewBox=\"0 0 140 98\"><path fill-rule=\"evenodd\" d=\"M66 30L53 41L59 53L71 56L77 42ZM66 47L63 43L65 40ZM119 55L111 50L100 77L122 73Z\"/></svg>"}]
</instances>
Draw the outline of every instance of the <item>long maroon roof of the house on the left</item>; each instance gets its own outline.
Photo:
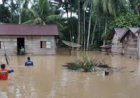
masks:
<instances>
[{"instance_id":1,"label":"long maroon roof of the house on the left","mask_svg":"<svg viewBox=\"0 0 140 98\"><path fill-rule=\"evenodd\" d=\"M58 35L56 25L0 24L0 36Z\"/></svg>"}]
</instances>

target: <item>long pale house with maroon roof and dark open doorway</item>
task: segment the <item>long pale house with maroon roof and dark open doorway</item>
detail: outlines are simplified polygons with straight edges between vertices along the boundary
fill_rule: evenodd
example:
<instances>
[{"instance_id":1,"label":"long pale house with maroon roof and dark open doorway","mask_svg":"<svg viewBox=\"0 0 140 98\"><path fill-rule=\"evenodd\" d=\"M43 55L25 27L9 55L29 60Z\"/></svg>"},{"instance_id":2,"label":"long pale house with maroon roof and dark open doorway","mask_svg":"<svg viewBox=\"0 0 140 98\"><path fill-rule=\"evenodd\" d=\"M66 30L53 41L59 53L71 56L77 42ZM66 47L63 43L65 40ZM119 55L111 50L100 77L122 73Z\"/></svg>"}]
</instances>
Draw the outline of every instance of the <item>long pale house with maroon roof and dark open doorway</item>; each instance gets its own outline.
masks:
<instances>
[{"instance_id":1,"label":"long pale house with maroon roof and dark open doorway","mask_svg":"<svg viewBox=\"0 0 140 98\"><path fill-rule=\"evenodd\" d=\"M0 55L56 53L56 25L0 24Z\"/></svg>"}]
</instances>

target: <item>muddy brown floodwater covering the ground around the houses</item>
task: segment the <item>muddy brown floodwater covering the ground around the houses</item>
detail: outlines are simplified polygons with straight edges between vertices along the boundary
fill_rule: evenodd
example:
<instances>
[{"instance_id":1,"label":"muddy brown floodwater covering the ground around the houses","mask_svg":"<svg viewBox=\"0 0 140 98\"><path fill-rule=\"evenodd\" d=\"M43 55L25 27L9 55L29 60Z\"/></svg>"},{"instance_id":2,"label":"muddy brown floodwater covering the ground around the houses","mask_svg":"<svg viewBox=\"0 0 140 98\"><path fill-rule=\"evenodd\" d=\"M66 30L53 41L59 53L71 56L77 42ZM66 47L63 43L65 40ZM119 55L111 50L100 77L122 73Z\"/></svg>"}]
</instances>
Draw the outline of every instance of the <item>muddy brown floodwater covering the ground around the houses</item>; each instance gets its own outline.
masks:
<instances>
[{"instance_id":1,"label":"muddy brown floodwater covering the ground around the houses","mask_svg":"<svg viewBox=\"0 0 140 98\"><path fill-rule=\"evenodd\" d=\"M139 98L140 60L135 57L88 52L115 68L123 68L105 76L103 72L75 72L62 65L81 59L85 54L73 52L49 56L29 55L33 67L24 67L26 56L9 56L15 72L9 80L0 81L0 98ZM0 63L5 63L0 56Z\"/></svg>"}]
</instances>

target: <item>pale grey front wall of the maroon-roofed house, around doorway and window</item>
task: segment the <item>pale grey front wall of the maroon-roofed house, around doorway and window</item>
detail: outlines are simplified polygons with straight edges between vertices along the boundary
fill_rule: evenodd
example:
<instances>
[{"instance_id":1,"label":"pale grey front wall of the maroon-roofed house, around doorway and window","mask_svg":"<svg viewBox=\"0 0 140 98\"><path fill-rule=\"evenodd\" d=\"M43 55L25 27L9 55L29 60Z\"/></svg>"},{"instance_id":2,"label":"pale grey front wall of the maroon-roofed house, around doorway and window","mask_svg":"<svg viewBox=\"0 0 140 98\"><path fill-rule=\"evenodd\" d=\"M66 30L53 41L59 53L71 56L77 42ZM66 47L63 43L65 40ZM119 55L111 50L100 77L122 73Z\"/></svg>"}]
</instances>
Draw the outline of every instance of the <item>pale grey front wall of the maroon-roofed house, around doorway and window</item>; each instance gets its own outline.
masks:
<instances>
[{"instance_id":1,"label":"pale grey front wall of the maroon-roofed house, around doorway and window","mask_svg":"<svg viewBox=\"0 0 140 98\"><path fill-rule=\"evenodd\" d=\"M33 55L47 55L56 53L54 36L0 36L0 55L4 55L4 46L8 55L17 54L17 38L25 39L25 53ZM51 42L51 48L40 48L40 41Z\"/></svg>"}]
</instances>

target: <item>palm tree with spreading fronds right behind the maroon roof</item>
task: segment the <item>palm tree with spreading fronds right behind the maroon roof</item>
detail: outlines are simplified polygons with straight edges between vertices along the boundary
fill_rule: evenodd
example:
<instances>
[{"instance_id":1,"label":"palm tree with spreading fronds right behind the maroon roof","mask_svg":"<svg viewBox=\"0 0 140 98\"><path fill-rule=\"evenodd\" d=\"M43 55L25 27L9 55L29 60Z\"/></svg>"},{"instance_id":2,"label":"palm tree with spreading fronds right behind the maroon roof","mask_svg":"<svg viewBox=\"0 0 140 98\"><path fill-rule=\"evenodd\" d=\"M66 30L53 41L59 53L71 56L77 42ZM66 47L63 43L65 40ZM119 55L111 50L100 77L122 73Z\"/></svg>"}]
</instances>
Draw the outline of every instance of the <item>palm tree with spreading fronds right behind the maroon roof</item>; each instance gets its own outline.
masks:
<instances>
[{"instance_id":1,"label":"palm tree with spreading fronds right behind the maroon roof","mask_svg":"<svg viewBox=\"0 0 140 98\"><path fill-rule=\"evenodd\" d=\"M54 14L49 9L49 3L47 0L34 0L32 7L26 9L25 14L27 19L23 21L24 24L57 24L58 27L62 28L60 23L61 17ZM25 17L25 16L24 16Z\"/></svg>"}]
</instances>

